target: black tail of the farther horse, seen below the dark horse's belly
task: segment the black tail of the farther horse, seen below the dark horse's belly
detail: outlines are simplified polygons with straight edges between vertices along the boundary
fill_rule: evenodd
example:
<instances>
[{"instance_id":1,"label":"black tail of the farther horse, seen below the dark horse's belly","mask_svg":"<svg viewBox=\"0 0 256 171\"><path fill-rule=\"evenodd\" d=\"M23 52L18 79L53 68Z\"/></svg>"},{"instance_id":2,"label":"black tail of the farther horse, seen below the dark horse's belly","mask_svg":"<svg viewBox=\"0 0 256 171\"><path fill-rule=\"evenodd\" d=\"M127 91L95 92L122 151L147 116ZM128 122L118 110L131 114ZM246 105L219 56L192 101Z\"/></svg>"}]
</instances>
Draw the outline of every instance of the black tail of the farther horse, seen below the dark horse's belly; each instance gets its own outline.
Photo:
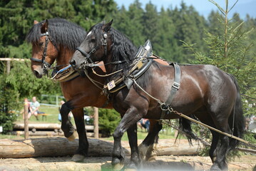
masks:
<instances>
[{"instance_id":1,"label":"black tail of the farther horse, seen below the dark horse's belly","mask_svg":"<svg viewBox=\"0 0 256 171\"><path fill-rule=\"evenodd\" d=\"M193 115L190 115L190 118L195 118ZM193 133L191 128L191 121L185 118L179 119L180 130L182 130L183 134L188 138L188 142L192 144L192 139L197 140L198 138Z\"/></svg>"}]
</instances>

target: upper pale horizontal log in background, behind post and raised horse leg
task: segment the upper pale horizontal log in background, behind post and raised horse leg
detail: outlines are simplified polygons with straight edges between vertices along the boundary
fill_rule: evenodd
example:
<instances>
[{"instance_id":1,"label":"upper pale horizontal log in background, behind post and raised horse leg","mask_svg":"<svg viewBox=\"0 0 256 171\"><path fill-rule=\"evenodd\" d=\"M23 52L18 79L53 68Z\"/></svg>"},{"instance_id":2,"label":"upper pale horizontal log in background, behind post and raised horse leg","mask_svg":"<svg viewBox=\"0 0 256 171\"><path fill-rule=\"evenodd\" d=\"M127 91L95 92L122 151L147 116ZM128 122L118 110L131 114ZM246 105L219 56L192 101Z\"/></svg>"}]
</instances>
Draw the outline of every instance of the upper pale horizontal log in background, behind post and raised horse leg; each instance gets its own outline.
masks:
<instances>
[{"instance_id":1,"label":"upper pale horizontal log in background, behind post and raised horse leg","mask_svg":"<svg viewBox=\"0 0 256 171\"><path fill-rule=\"evenodd\" d=\"M61 124L58 123L29 123L29 129L36 130L54 130L61 129ZM76 127L75 127L76 128ZM86 130L93 130L93 125L86 125ZM14 130L24 130L24 123L14 123Z\"/></svg>"}]
</instances>

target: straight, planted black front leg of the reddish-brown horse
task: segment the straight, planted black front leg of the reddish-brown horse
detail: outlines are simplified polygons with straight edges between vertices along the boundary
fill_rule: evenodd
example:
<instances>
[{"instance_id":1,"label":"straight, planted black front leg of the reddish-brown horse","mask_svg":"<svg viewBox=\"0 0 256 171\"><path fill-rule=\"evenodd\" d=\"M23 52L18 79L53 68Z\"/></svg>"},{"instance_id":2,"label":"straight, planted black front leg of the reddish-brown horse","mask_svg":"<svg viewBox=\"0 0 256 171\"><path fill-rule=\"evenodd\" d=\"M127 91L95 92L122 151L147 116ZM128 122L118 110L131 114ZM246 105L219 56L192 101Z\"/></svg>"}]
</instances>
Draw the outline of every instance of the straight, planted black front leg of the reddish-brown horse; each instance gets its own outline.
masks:
<instances>
[{"instance_id":1,"label":"straight, planted black front leg of the reddish-brown horse","mask_svg":"<svg viewBox=\"0 0 256 171\"><path fill-rule=\"evenodd\" d=\"M84 160L86 156L88 156L88 147L89 147L88 139L86 136L83 108L74 109L72 110L72 113L76 123L76 130L79 138L79 146L78 146L78 149L76 150L76 154L73 155L71 160L74 162L81 162Z\"/></svg>"}]
</instances>

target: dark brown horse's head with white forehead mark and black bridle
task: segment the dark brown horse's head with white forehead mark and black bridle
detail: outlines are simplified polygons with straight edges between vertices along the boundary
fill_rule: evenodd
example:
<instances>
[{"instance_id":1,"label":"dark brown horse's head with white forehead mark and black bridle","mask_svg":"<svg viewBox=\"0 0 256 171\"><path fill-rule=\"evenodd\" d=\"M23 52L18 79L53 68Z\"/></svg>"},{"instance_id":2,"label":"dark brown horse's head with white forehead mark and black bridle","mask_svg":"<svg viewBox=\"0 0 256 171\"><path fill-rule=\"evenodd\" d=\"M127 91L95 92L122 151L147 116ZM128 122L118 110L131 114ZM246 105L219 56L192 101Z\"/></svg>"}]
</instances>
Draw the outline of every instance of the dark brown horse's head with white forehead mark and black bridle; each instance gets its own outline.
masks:
<instances>
[{"instance_id":1,"label":"dark brown horse's head with white forehead mark and black bridle","mask_svg":"<svg viewBox=\"0 0 256 171\"><path fill-rule=\"evenodd\" d=\"M76 48L70 61L71 66L77 71L96 61L104 61L111 51L111 20L108 24L96 24L91 27L81 45Z\"/></svg>"}]
</instances>

